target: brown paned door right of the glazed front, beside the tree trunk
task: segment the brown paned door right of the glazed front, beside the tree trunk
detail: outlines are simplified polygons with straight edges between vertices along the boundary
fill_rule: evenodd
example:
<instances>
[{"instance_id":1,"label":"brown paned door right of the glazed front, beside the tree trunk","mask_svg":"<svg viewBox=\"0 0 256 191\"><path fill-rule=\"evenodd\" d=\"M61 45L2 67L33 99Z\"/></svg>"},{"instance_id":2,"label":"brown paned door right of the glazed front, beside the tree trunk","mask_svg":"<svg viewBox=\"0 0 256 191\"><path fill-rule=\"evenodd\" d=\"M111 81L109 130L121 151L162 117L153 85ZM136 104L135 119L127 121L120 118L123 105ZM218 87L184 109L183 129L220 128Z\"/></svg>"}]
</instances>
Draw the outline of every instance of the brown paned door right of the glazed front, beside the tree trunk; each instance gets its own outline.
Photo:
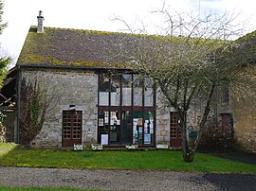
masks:
<instances>
[{"instance_id":1,"label":"brown paned door right of the glazed front, beside the tree trunk","mask_svg":"<svg viewBox=\"0 0 256 191\"><path fill-rule=\"evenodd\" d=\"M177 113L171 113L170 119L170 146L181 147L181 129L178 125L179 119Z\"/></svg>"}]
</instances>

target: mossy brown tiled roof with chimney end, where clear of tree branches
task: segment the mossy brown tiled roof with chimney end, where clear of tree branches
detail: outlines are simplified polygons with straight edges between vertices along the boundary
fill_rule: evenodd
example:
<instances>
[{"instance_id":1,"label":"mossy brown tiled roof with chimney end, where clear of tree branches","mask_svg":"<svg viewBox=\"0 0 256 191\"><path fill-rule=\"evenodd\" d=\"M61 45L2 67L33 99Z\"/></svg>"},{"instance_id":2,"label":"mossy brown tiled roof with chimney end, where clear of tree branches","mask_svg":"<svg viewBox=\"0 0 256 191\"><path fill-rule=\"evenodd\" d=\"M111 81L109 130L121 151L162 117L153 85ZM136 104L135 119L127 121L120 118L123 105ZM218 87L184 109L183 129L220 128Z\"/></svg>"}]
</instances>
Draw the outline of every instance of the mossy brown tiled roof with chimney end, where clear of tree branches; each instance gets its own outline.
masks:
<instances>
[{"instance_id":1,"label":"mossy brown tiled roof with chimney end, where clear of tree branches","mask_svg":"<svg viewBox=\"0 0 256 191\"><path fill-rule=\"evenodd\" d=\"M255 35L247 36L251 39ZM45 27L44 33L37 33L37 27L31 26L17 64L131 68L134 67L131 60L139 58L136 54L152 57L159 42L168 46L168 41L181 43L184 39L55 27ZM237 43L244 41L242 38ZM210 40L192 39L191 42L204 44ZM135 47L135 44L140 47Z\"/></svg>"}]
</instances>

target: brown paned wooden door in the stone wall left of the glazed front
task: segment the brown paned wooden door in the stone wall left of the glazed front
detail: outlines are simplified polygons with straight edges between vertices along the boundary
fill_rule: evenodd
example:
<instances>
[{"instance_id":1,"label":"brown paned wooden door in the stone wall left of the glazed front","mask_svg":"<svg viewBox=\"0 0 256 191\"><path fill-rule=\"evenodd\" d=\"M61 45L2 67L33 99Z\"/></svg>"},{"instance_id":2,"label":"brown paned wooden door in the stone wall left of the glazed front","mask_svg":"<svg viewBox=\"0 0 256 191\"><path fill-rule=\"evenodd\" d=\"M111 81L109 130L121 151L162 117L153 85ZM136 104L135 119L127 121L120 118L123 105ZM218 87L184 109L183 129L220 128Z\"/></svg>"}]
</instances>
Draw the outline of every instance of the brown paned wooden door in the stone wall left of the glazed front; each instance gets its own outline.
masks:
<instances>
[{"instance_id":1,"label":"brown paned wooden door in the stone wall left of the glazed front","mask_svg":"<svg viewBox=\"0 0 256 191\"><path fill-rule=\"evenodd\" d=\"M63 147L71 148L82 144L82 112L63 112Z\"/></svg>"}]
</instances>

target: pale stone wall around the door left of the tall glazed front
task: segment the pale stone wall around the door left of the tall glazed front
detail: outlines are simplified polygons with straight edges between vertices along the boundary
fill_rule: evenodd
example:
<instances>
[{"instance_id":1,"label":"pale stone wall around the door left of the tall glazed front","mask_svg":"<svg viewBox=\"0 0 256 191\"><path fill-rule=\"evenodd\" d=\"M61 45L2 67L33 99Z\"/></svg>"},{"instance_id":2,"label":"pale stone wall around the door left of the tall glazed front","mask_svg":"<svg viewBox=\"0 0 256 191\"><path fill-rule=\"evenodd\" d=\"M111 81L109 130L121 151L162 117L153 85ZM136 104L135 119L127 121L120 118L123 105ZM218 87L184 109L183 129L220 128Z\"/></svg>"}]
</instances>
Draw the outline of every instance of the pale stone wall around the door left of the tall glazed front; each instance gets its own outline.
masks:
<instances>
[{"instance_id":1,"label":"pale stone wall around the door left of the tall glazed front","mask_svg":"<svg viewBox=\"0 0 256 191\"><path fill-rule=\"evenodd\" d=\"M47 86L50 107L43 129L31 142L33 148L61 148L63 111L70 105L82 111L82 143L96 143L98 115L98 75L80 70L26 70L23 78Z\"/></svg>"}]
</instances>

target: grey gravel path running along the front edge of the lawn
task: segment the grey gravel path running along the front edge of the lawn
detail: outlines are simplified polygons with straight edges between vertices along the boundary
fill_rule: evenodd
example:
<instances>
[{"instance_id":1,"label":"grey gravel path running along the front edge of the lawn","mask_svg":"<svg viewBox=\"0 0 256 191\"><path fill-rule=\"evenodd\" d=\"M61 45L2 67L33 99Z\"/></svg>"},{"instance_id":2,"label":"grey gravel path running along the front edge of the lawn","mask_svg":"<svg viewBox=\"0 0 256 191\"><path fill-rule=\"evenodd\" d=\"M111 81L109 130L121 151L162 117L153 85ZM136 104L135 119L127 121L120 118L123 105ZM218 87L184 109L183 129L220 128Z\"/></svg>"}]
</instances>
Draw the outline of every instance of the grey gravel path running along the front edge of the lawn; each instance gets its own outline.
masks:
<instances>
[{"instance_id":1,"label":"grey gravel path running along the front edge of the lawn","mask_svg":"<svg viewBox=\"0 0 256 191\"><path fill-rule=\"evenodd\" d=\"M0 166L0 184L101 190L256 190L256 175Z\"/></svg>"}]
</instances>

